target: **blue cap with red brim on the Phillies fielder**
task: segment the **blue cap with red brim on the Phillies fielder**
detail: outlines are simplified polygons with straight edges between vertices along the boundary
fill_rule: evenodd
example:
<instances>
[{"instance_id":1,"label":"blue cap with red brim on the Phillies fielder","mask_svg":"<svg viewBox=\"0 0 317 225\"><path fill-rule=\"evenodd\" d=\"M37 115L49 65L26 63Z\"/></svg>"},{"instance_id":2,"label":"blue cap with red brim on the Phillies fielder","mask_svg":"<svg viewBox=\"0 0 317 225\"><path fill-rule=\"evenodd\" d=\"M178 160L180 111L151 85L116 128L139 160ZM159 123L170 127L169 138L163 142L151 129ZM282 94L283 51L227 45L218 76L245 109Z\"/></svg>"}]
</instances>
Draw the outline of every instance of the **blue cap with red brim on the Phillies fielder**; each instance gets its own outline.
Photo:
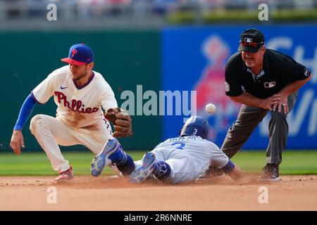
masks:
<instances>
[{"instance_id":1,"label":"blue cap with red brim on the Phillies fielder","mask_svg":"<svg viewBox=\"0 0 317 225\"><path fill-rule=\"evenodd\" d=\"M89 46L74 44L69 49L68 58L62 58L61 61L73 65L85 65L94 61L94 54Z\"/></svg>"}]
</instances>

